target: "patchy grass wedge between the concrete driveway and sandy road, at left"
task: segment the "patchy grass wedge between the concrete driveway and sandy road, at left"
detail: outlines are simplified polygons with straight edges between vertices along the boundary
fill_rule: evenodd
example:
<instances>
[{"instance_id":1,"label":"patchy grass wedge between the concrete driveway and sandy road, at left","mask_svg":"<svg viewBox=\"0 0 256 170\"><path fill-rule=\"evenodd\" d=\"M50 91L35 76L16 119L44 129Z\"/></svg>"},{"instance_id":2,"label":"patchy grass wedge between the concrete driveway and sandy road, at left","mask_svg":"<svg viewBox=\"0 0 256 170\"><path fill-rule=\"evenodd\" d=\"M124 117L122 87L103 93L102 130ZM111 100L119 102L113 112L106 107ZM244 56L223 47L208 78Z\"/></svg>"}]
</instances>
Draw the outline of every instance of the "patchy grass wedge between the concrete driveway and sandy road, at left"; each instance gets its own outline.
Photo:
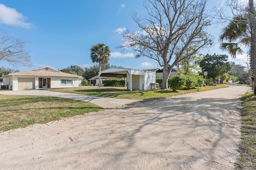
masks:
<instances>
[{"instance_id":1,"label":"patchy grass wedge between the concrete driveway and sandy road, at left","mask_svg":"<svg viewBox=\"0 0 256 170\"><path fill-rule=\"evenodd\" d=\"M64 98L0 95L0 132L100 109L92 103Z\"/></svg>"}]
</instances>

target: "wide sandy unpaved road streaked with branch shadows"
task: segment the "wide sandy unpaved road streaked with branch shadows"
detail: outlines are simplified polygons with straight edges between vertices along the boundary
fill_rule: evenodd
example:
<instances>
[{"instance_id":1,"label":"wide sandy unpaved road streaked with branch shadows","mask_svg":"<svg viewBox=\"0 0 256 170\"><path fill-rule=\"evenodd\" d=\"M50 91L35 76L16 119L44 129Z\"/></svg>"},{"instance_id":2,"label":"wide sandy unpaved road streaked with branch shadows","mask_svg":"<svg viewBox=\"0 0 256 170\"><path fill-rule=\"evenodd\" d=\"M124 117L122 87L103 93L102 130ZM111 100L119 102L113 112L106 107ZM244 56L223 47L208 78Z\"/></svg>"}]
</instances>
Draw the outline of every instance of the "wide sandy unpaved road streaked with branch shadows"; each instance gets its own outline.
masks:
<instances>
[{"instance_id":1,"label":"wide sandy unpaved road streaked with branch shadows","mask_svg":"<svg viewBox=\"0 0 256 170\"><path fill-rule=\"evenodd\" d=\"M232 86L0 133L0 169L234 169Z\"/></svg>"}]
</instances>

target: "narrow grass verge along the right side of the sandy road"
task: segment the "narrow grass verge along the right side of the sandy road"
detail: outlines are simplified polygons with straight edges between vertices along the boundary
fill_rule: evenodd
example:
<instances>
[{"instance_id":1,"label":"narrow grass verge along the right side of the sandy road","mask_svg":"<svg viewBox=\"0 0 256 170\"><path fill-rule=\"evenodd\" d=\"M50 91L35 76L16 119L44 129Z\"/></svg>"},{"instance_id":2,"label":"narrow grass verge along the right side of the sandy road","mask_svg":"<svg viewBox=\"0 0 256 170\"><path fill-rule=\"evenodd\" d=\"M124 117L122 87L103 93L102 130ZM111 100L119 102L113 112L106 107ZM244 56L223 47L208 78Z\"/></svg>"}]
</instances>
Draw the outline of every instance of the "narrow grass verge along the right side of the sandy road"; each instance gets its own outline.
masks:
<instances>
[{"instance_id":1,"label":"narrow grass verge along the right side of the sandy road","mask_svg":"<svg viewBox=\"0 0 256 170\"><path fill-rule=\"evenodd\" d=\"M242 139L236 165L240 169L256 169L256 96L249 92L242 100Z\"/></svg>"}]
</instances>

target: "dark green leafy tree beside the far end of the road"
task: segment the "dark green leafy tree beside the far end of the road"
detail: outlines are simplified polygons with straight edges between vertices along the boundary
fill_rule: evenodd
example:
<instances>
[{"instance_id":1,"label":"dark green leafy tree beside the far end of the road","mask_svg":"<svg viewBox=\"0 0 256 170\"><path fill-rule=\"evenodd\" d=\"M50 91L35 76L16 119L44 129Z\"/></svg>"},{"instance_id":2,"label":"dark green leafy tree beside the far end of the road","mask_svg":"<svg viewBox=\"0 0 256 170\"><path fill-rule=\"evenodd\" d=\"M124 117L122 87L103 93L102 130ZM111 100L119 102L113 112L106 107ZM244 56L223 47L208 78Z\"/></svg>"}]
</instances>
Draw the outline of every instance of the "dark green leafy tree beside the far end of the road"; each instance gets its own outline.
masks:
<instances>
[{"instance_id":1,"label":"dark green leafy tree beside the far end of the road","mask_svg":"<svg viewBox=\"0 0 256 170\"><path fill-rule=\"evenodd\" d=\"M207 54L199 65L202 68L202 72L207 71L207 76L212 78L212 81L215 83L216 77L221 76L230 70L231 66L227 61L227 55Z\"/></svg>"}]
</instances>

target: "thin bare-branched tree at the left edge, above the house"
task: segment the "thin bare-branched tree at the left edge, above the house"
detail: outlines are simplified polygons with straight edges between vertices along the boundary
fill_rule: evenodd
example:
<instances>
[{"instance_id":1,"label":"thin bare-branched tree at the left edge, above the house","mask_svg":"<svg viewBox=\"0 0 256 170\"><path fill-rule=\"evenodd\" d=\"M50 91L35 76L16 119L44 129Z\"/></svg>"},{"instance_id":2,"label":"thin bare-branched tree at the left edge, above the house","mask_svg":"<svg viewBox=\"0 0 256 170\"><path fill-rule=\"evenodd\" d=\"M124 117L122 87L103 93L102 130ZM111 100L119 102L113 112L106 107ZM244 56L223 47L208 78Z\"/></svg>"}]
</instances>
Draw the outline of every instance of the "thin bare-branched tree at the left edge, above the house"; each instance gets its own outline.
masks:
<instances>
[{"instance_id":1,"label":"thin bare-branched tree at the left edge, above the house","mask_svg":"<svg viewBox=\"0 0 256 170\"><path fill-rule=\"evenodd\" d=\"M24 50L26 41L8 36L0 30L0 61L17 66L31 66L30 56Z\"/></svg>"}]
</instances>

